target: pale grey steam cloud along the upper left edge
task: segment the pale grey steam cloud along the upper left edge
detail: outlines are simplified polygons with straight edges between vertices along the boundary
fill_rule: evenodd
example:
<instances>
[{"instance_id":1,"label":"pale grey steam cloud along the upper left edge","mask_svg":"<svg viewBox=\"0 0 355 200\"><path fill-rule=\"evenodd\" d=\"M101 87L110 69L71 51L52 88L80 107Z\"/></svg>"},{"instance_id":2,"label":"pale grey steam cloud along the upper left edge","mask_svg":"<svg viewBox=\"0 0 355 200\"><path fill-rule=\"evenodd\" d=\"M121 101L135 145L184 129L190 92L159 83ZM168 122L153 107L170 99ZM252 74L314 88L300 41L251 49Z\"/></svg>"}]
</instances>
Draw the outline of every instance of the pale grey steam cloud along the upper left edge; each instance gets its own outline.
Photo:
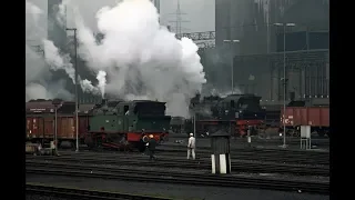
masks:
<instances>
[{"instance_id":1,"label":"pale grey steam cloud along the upper left edge","mask_svg":"<svg viewBox=\"0 0 355 200\"><path fill-rule=\"evenodd\" d=\"M71 100L64 89L65 81L51 80L51 71L44 62L41 41L45 37L47 14L34 2L26 1L26 101L31 99L61 98Z\"/></svg>"}]
</instances>

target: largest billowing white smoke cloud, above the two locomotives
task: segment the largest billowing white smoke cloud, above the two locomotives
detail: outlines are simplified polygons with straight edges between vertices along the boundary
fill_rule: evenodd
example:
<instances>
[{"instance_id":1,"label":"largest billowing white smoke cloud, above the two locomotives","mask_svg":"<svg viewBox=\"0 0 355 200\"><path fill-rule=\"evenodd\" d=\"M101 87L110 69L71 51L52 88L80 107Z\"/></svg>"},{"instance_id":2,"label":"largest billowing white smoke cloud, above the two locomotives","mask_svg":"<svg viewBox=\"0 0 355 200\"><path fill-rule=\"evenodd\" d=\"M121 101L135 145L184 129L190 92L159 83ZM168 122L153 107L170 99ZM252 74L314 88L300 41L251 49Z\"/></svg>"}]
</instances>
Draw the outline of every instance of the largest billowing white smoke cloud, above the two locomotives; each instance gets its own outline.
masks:
<instances>
[{"instance_id":1,"label":"largest billowing white smoke cloud, above the two locomotives","mask_svg":"<svg viewBox=\"0 0 355 200\"><path fill-rule=\"evenodd\" d=\"M190 99L205 83L197 46L187 38L175 39L159 24L149 0L124 0L97 13L104 34L97 43L93 32L75 18L80 56L92 70L108 72L108 94L146 97L168 102L168 113L189 117Z\"/></svg>"}]
</instances>

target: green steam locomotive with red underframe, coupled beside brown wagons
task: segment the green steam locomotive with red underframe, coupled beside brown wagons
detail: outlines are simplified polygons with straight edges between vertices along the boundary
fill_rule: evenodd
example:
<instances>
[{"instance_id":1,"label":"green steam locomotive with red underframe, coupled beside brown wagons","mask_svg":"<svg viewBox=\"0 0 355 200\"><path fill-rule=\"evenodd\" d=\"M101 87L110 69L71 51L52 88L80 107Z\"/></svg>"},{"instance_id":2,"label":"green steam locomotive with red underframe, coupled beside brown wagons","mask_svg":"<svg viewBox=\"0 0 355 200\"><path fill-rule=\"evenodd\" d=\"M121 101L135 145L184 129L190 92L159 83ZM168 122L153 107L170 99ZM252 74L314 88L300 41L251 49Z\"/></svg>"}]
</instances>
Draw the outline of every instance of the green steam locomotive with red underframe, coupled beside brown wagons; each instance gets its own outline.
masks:
<instances>
[{"instance_id":1,"label":"green steam locomotive with red underframe, coupled beside brown wagons","mask_svg":"<svg viewBox=\"0 0 355 200\"><path fill-rule=\"evenodd\" d=\"M170 116L159 101L106 101L93 109L85 143L91 148L131 144L144 151L148 134L160 142L168 137Z\"/></svg>"}]
</instances>

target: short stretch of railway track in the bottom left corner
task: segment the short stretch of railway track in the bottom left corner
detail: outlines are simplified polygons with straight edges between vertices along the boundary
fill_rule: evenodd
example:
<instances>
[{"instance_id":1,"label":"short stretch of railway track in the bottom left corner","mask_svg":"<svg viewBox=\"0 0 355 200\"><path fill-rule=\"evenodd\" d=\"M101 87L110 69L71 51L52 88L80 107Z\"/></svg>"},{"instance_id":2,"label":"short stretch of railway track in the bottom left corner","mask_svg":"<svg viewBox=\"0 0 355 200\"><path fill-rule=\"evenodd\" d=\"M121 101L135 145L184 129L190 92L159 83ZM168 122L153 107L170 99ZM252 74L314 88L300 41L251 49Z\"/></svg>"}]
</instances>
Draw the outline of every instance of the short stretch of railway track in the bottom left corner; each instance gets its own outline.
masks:
<instances>
[{"instance_id":1,"label":"short stretch of railway track in the bottom left corner","mask_svg":"<svg viewBox=\"0 0 355 200\"><path fill-rule=\"evenodd\" d=\"M77 188L63 188L45 184L26 183L27 194L50 196L68 199L88 199L88 200L122 200L122 199L135 199L135 200L172 200L169 198L129 194L121 192L108 192L108 191L94 191Z\"/></svg>"}]
</instances>

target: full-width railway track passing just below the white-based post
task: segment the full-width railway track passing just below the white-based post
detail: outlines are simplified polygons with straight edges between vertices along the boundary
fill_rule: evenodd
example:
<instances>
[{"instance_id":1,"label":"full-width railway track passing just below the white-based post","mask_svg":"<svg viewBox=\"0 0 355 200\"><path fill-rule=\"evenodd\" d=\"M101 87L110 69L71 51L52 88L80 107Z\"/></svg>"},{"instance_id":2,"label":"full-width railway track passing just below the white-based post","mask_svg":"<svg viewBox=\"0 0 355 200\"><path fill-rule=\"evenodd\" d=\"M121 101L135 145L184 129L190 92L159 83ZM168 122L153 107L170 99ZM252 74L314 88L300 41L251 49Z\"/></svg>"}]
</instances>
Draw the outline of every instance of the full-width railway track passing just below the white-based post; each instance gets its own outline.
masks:
<instances>
[{"instance_id":1,"label":"full-width railway track passing just below the white-based post","mask_svg":"<svg viewBox=\"0 0 355 200\"><path fill-rule=\"evenodd\" d=\"M48 174L48 176L64 176L80 178L101 178L101 179L118 179L128 181L153 181L163 183L182 183L197 186L214 186L214 187L232 187L232 188L257 188L282 191L302 191L311 193L328 194L328 182L312 182L300 180L284 180L272 178L252 178L237 176L212 176L201 173L172 173L166 171L149 171L138 169L116 169L116 168L98 168L95 170L83 169L83 166L58 166L44 164L42 167L27 166L27 173L31 174Z\"/></svg>"}]
</instances>

